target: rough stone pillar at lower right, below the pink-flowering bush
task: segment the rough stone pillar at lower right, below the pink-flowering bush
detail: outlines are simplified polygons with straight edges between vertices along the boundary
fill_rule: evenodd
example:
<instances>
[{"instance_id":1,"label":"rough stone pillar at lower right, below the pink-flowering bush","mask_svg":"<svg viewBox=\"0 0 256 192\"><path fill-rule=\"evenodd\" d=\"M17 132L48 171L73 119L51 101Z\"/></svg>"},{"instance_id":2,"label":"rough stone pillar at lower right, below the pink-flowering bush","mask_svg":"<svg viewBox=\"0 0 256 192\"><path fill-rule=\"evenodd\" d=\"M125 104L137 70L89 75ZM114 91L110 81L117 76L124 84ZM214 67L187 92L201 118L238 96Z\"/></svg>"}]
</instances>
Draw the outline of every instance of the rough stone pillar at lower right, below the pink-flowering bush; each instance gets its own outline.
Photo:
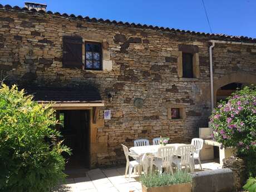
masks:
<instances>
[{"instance_id":1,"label":"rough stone pillar at lower right, below the pink-flowering bush","mask_svg":"<svg viewBox=\"0 0 256 192\"><path fill-rule=\"evenodd\" d=\"M244 160L239 157L230 156L223 159L222 168L229 168L234 173L235 187L241 189L245 183L245 165Z\"/></svg>"}]
</instances>

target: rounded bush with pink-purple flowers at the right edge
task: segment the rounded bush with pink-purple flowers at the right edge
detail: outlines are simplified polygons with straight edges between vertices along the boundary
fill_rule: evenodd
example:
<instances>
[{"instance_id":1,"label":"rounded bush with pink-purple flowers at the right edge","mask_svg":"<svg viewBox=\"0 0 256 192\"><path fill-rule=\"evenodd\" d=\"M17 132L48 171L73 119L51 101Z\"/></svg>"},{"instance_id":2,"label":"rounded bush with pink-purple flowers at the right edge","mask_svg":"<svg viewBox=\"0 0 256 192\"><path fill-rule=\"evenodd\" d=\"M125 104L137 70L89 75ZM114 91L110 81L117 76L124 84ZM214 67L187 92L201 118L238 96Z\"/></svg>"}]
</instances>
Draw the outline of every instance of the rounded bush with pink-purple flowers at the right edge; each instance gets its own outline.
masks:
<instances>
[{"instance_id":1,"label":"rounded bush with pink-purple flowers at the right edge","mask_svg":"<svg viewBox=\"0 0 256 192\"><path fill-rule=\"evenodd\" d=\"M256 152L256 86L244 87L221 101L210 117L213 137L239 156Z\"/></svg>"}]
</instances>

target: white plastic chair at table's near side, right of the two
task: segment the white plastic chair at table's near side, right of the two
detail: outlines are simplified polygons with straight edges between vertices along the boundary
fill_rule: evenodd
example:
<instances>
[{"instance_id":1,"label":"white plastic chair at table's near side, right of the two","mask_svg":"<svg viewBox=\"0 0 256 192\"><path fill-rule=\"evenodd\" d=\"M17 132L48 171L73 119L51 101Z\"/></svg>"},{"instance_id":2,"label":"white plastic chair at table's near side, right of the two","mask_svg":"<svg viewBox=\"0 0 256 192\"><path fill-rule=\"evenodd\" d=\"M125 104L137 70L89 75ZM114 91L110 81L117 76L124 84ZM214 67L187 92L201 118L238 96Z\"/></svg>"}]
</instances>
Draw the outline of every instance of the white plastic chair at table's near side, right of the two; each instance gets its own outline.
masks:
<instances>
[{"instance_id":1,"label":"white plastic chair at table's near side, right of the two","mask_svg":"<svg viewBox=\"0 0 256 192\"><path fill-rule=\"evenodd\" d=\"M173 163L177 165L179 170L181 170L182 166L185 166L186 169L190 169L191 173L194 172L193 159L191 158L191 154L194 153L194 148L193 145L178 146L176 155L180 156L180 159L176 157Z\"/></svg>"}]
</instances>

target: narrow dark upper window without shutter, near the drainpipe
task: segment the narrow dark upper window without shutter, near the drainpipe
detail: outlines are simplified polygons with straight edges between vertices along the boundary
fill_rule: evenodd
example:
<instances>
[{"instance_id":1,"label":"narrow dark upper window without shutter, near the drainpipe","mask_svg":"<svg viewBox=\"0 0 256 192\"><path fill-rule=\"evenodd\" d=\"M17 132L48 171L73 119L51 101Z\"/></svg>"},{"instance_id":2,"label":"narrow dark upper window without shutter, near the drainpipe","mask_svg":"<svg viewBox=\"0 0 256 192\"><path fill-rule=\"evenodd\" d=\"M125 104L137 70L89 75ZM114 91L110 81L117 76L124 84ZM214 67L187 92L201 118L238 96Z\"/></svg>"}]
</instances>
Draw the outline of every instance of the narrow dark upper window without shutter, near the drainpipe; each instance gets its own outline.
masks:
<instances>
[{"instance_id":1,"label":"narrow dark upper window without shutter, near the drainpipe","mask_svg":"<svg viewBox=\"0 0 256 192\"><path fill-rule=\"evenodd\" d=\"M182 53L183 77L193 78L193 54Z\"/></svg>"}]
</instances>

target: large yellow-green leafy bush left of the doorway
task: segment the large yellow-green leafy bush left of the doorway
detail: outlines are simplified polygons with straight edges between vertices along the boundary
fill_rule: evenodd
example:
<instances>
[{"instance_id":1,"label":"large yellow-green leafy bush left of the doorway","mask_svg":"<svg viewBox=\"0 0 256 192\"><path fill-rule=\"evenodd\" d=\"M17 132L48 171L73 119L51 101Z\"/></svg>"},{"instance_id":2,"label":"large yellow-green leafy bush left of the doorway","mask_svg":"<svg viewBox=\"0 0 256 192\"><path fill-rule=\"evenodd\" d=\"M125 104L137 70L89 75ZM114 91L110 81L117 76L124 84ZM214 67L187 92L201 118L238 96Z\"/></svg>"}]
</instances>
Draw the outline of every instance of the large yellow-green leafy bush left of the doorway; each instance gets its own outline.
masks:
<instances>
[{"instance_id":1,"label":"large yellow-green leafy bush left of the doorway","mask_svg":"<svg viewBox=\"0 0 256 192\"><path fill-rule=\"evenodd\" d=\"M45 192L65 178L70 150L57 142L53 112L17 86L0 88L0 191Z\"/></svg>"}]
</instances>

